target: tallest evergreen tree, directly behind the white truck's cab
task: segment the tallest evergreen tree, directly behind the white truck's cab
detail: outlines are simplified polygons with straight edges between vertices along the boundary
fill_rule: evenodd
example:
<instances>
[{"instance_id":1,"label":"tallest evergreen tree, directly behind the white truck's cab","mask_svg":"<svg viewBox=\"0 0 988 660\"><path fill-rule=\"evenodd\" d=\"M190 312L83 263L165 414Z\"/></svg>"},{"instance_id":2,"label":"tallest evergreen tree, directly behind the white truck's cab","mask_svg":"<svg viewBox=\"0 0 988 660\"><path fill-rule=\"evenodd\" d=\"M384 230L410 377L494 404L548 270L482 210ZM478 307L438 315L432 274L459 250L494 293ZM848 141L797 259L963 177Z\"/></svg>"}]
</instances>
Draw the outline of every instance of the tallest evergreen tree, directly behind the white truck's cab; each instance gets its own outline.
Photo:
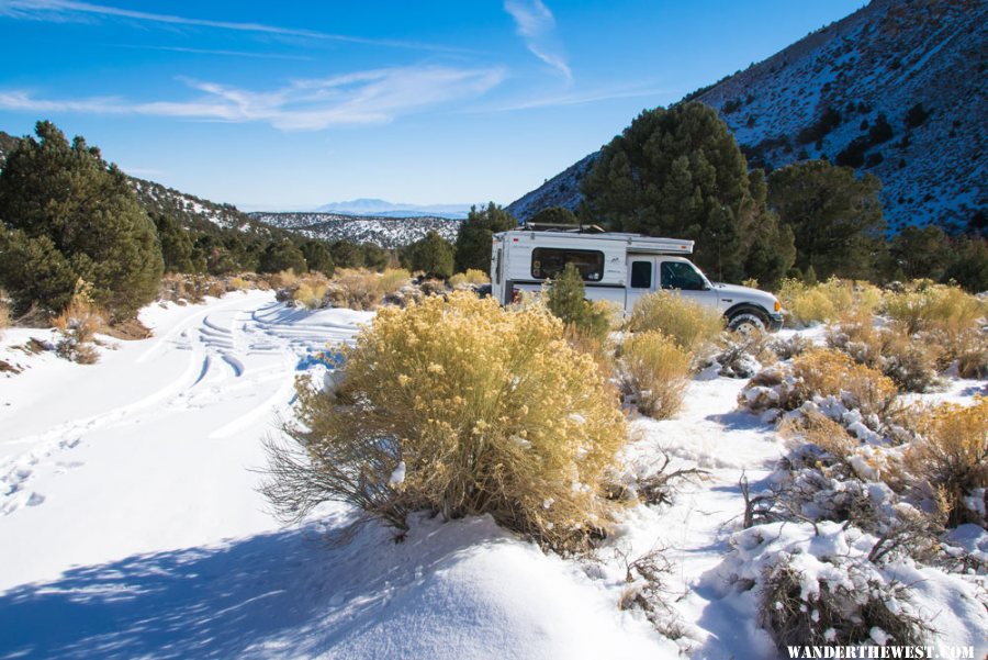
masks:
<instances>
[{"instance_id":1,"label":"tallest evergreen tree, directly behind the white truck's cab","mask_svg":"<svg viewBox=\"0 0 988 660\"><path fill-rule=\"evenodd\" d=\"M604 147L582 190L588 220L615 231L692 238L696 262L715 279L774 280L788 270L789 248L777 243L787 234L764 195L753 193L727 125L701 103L642 112ZM782 258L768 258L773 245ZM753 246L757 254L749 259Z\"/></svg>"}]
</instances>

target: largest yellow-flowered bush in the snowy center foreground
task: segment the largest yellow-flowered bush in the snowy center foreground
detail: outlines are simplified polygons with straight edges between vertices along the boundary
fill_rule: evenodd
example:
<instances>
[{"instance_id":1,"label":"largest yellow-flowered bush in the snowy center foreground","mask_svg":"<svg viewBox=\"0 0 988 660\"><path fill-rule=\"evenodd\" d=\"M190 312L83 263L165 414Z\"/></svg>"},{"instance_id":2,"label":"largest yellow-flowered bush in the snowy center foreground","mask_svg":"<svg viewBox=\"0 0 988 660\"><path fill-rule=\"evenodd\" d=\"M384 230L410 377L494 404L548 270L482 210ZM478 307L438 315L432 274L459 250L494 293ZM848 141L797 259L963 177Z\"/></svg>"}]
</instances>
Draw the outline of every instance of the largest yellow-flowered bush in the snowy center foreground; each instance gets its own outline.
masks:
<instances>
[{"instance_id":1,"label":"largest yellow-flowered bush in the snowy center foreground","mask_svg":"<svg viewBox=\"0 0 988 660\"><path fill-rule=\"evenodd\" d=\"M299 387L301 451L270 444L266 493L288 517L343 501L407 514L491 514L540 544L581 547L626 428L617 392L544 311L452 293L383 309L346 353L338 389Z\"/></svg>"}]
</instances>

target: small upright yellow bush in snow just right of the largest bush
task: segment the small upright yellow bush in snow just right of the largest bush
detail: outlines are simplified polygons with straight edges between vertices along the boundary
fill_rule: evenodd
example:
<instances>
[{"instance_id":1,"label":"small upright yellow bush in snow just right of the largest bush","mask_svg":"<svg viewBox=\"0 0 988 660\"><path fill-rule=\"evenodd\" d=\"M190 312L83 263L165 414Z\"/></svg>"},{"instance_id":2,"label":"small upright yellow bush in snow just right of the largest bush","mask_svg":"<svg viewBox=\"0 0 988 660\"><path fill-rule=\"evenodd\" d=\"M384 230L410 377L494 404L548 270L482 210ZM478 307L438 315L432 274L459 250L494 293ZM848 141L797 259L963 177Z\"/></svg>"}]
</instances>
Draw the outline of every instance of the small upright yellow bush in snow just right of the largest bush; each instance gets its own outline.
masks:
<instances>
[{"instance_id":1,"label":"small upright yellow bush in snow just right of the largest bush","mask_svg":"<svg viewBox=\"0 0 988 660\"><path fill-rule=\"evenodd\" d=\"M667 420L683 407L692 361L692 354L661 332L636 333L621 346L621 389L639 412Z\"/></svg>"}]
</instances>

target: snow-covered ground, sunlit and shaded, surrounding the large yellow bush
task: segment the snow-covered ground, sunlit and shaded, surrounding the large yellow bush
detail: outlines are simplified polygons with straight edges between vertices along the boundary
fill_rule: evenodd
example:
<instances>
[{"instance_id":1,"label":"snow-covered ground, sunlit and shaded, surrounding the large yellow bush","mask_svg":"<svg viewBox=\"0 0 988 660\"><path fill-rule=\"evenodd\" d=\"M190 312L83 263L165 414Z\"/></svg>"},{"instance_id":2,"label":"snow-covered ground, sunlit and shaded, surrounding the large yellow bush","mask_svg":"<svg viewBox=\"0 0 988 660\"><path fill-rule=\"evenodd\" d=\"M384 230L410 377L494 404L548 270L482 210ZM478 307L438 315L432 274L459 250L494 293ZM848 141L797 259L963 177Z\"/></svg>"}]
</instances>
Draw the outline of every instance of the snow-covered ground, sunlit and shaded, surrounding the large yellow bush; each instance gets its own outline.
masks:
<instances>
[{"instance_id":1,"label":"snow-covered ground, sunlit and shaded, surrounding the large yellow bush","mask_svg":"<svg viewBox=\"0 0 988 660\"><path fill-rule=\"evenodd\" d=\"M486 517L416 516L402 544L371 525L344 546L324 534L343 505L279 524L257 492L262 440L314 354L370 316L262 292L153 305L154 338L90 367L13 348L46 332L8 331L0 359L24 370L0 376L0 658L775 657L750 600L717 579L739 480L756 489L785 450L737 411L743 380L697 379L676 418L632 423L630 461L665 452L709 477L630 508L598 561ZM671 560L677 640L618 607L626 563L653 548Z\"/></svg>"}]
</instances>

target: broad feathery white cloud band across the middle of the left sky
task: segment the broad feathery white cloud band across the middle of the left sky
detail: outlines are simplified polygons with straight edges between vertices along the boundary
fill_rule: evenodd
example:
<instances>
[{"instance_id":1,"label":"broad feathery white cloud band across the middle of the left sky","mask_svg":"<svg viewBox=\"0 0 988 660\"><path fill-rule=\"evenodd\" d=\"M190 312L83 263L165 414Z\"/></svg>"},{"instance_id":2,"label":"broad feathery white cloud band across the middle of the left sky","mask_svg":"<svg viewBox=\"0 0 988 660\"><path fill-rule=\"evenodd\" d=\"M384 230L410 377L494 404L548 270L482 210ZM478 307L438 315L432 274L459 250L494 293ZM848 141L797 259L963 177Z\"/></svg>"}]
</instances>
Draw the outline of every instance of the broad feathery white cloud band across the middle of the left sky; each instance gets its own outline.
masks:
<instances>
[{"instance_id":1,"label":"broad feathery white cloud band across the middle of the left sky","mask_svg":"<svg viewBox=\"0 0 988 660\"><path fill-rule=\"evenodd\" d=\"M0 91L0 109L265 122L283 131L393 121L428 107L476 98L504 80L498 68L414 66L296 80L271 91L186 80L200 97L183 101L130 102L119 97L41 99L23 90Z\"/></svg>"}]
</instances>

